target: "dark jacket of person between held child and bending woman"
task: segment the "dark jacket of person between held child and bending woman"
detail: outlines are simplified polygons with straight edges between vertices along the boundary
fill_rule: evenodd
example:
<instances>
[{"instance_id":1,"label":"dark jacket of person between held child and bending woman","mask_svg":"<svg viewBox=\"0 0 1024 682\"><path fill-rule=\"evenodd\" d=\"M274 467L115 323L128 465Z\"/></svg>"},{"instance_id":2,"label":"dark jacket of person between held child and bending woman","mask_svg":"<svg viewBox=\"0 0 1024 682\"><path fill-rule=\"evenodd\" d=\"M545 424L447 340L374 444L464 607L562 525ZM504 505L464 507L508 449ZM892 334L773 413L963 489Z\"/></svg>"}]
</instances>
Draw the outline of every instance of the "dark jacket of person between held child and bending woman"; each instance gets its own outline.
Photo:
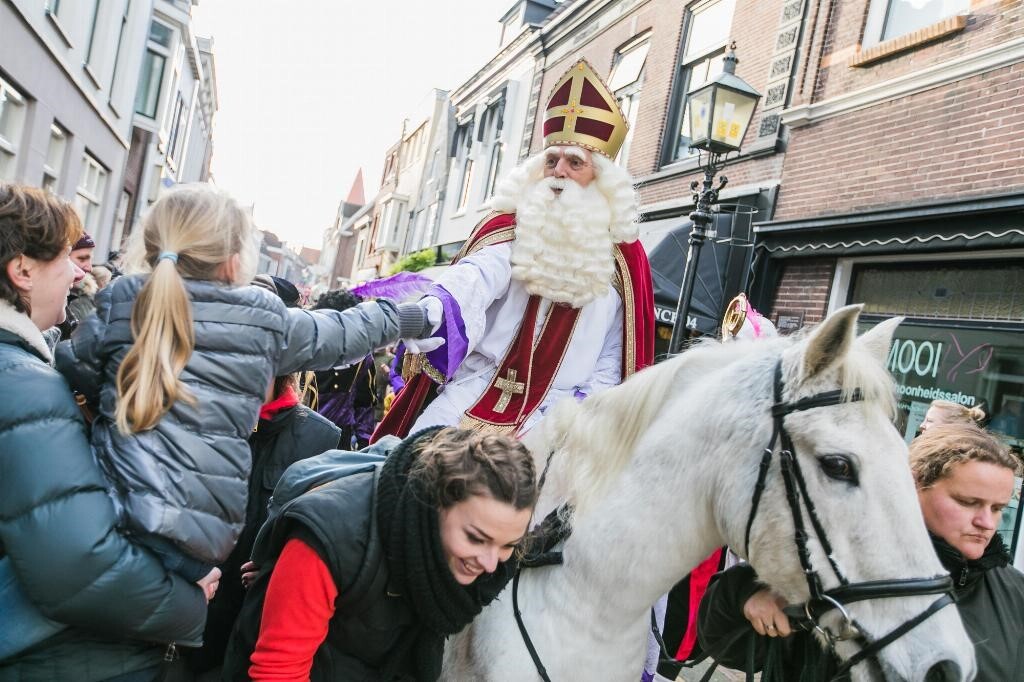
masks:
<instances>
[{"instance_id":1,"label":"dark jacket of person between held child and bending woman","mask_svg":"<svg viewBox=\"0 0 1024 682\"><path fill-rule=\"evenodd\" d=\"M203 648L185 651L196 672L211 670L224 658L227 639L242 609L242 564L252 555L256 532L266 521L267 504L278 480L289 466L299 460L319 455L338 446L341 430L328 419L305 406L284 410L270 419L261 419L249 437L253 453L253 472L249 477L249 505L246 523L230 556L220 566L223 580L210 602L210 612L203 634Z\"/></svg>"}]
</instances>

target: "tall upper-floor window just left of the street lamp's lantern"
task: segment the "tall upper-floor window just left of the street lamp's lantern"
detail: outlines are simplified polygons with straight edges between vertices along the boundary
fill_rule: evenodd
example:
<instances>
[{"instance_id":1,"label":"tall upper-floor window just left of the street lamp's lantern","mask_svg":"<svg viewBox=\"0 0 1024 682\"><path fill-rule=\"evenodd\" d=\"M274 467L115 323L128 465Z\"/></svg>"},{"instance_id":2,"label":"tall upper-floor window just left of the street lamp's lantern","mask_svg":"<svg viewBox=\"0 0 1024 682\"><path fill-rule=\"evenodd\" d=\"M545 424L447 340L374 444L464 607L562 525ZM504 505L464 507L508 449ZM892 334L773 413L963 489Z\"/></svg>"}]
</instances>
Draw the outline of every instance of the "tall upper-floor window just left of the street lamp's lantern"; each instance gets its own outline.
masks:
<instances>
[{"instance_id":1,"label":"tall upper-floor window just left of the street lamp's lantern","mask_svg":"<svg viewBox=\"0 0 1024 682\"><path fill-rule=\"evenodd\" d=\"M690 156L690 119L687 92L708 83L722 73L722 57L729 41L735 0L698 3L686 14L683 56L676 74L672 118L667 135L667 161Z\"/></svg>"}]
</instances>

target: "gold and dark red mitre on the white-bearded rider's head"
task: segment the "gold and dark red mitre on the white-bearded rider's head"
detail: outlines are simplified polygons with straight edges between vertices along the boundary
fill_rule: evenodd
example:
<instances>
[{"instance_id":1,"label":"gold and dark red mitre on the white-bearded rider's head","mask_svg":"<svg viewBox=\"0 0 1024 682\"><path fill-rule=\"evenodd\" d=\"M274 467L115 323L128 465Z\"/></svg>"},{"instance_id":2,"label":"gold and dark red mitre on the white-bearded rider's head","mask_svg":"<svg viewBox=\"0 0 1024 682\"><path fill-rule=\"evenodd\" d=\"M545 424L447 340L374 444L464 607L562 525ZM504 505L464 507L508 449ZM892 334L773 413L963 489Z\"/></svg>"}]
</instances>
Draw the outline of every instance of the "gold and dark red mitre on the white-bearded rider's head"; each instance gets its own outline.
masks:
<instances>
[{"instance_id":1,"label":"gold and dark red mitre on the white-bearded rider's head","mask_svg":"<svg viewBox=\"0 0 1024 682\"><path fill-rule=\"evenodd\" d=\"M580 59L562 75L544 114L544 146L571 144L614 159L629 124L597 72Z\"/></svg>"}]
</instances>

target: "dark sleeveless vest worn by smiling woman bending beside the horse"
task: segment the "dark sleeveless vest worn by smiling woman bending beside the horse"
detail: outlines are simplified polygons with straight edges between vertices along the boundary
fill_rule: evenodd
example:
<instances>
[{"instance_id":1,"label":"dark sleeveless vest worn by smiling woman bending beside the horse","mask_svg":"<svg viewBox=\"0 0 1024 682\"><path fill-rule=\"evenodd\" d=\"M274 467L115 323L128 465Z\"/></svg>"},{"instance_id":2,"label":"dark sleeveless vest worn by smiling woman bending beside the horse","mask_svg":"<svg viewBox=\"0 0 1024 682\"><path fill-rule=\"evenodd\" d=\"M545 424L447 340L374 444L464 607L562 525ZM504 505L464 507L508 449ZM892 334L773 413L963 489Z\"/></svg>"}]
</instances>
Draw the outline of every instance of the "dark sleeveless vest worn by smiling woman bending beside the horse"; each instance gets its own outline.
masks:
<instances>
[{"instance_id":1,"label":"dark sleeveless vest worn by smiling woman bending beside the horse","mask_svg":"<svg viewBox=\"0 0 1024 682\"><path fill-rule=\"evenodd\" d=\"M379 444L388 441L398 442L388 438ZM257 554L266 560L280 553L289 539L302 539L327 564L338 588L335 615L313 657L312 682L381 682L380 668L393 664L389 654L416 624L410 604L388 591L387 562L376 521L379 473L379 467L370 465L296 498L283 508L273 527L264 529L265 545L263 532L257 543ZM248 679L268 583L269 571L246 596L224 659L225 680Z\"/></svg>"}]
</instances>

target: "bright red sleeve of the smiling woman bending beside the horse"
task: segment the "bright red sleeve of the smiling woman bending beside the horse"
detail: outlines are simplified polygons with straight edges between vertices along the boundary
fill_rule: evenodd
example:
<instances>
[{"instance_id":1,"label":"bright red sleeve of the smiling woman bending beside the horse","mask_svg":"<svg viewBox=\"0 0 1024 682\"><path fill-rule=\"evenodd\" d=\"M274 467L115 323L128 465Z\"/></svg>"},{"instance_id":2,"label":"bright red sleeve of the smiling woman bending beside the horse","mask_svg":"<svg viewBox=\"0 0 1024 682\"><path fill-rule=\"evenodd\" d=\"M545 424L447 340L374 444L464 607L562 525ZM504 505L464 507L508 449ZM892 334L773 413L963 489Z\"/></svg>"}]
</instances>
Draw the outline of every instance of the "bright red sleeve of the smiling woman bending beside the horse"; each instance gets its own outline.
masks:
<instances>
[{"instance_id":1,"label":"bright red sleeve of the smiling woman bending beside the horse","mask_svg":"<svg viewBox=\"0 0 1024 682\"><path fill-rule=\"evenodd\" d=\"M338 588L327 564L301 540L289 540L267 586L249 677L273 682L308 680L337 598Z\"/></svg>"}]
</instances>

